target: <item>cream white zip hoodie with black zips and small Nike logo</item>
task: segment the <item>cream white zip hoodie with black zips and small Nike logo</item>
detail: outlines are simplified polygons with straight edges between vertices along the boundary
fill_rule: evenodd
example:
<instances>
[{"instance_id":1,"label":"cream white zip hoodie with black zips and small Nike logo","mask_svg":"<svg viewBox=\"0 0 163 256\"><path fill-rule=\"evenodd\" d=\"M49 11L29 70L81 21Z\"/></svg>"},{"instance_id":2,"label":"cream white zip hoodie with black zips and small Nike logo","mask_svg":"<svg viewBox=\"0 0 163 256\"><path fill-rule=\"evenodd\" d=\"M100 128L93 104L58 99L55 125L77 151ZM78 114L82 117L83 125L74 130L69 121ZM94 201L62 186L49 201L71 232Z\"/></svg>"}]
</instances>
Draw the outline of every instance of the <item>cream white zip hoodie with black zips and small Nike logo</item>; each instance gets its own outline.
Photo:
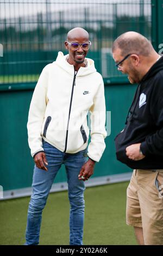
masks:
<instances>
[{"instance_id":1,"label":"cream white zip hoodie with black zips and small Nike logo","mask_svg":"<svg viewBox=\"0 0 163 256\"><path fill-rule=\"evenodd\" d=\"M55 62L42 70L36 84L28 115L28 143L34 157L42 148L42 138L66 153L87 147L90 111L91 142L87 155L99 161L105 149L105 98L102 76L92 59L75 75L74 66L62 52Z\"/></svg>"}]
</instances>

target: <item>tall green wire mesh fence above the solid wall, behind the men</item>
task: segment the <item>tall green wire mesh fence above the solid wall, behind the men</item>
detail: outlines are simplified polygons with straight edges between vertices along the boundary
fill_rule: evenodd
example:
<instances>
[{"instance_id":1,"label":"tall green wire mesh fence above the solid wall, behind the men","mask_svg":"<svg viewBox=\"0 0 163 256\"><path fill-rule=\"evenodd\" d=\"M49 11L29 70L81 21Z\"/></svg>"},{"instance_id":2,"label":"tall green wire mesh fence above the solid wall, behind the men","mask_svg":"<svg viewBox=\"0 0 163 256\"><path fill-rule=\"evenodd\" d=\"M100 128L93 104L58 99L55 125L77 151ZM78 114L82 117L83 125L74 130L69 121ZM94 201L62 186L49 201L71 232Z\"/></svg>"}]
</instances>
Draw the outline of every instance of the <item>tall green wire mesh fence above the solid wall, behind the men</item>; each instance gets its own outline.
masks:
<instances>
[{"instance_id":1,"label":"tall green wire mesh fence above the solid wall, behind the men","mask_svg":"<svg viewBox=\"0 0 163 256\"><path fill-rule=\"evenodd\" d=\"M108 82L126 76L115 68L111 45L118 35L136 31L151 40L151 1L1 1L0 84L35 82L42 68L66 53L64 41L73 27L90 34L87 57Z\"/></svg>"}]
</instances>

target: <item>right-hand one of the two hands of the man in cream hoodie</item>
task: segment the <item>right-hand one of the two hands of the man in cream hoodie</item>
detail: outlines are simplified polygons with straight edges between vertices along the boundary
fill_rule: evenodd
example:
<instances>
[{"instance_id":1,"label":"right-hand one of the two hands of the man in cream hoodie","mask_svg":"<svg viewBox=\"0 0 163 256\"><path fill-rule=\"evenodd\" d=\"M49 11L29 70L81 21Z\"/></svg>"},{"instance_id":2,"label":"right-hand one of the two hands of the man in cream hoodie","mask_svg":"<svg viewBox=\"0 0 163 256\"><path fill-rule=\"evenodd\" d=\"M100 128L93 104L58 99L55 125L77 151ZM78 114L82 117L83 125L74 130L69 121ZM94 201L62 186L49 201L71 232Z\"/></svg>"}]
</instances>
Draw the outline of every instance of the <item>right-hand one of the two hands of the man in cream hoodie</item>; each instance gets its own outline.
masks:
<instances>
[{"instance_id":1,"label":"right-hand one of the two hands of the man in cream hoodie","mask_svg":"<svg viewBox=\"0 0 163 256\"><path fill-rule=\"evenodd\" d=\"M86 163L83 164L78 175L79 180L86 181L90 178L90 176L93 174L95 163L95 161L89 159ZM82 179L82 176L84 179Z\"/></svg>"}]
</instances>

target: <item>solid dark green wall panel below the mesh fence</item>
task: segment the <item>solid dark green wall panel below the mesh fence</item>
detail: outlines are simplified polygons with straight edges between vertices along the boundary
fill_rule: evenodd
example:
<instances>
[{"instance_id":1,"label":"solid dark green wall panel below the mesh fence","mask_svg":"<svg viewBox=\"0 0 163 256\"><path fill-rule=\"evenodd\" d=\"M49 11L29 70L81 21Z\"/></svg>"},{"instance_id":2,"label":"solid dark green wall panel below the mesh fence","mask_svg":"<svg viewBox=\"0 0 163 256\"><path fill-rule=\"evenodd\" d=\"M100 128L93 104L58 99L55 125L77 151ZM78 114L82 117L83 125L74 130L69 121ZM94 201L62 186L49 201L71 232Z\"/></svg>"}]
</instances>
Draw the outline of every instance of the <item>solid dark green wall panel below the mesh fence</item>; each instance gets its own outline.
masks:
<instances>
[{"instance_id":1,"label":"solid dark green wall panel below the mesh fence","mask_svg":"<svg viewBox=\"0 0 163 256\"><path fill-rule=\"evenodd\" d=\"M111 135L105 139L106 149L96 164L96 176L130 172L115 156L114 138L123 129L135 86L130 84L105 86L106 109L111 111ZM34 161L27 140L27 118L33 89L1 92L1 169L0 185L5 190L30 187ZM62 166L55 182L66 181Z\"/></svg>"}]
</instances>

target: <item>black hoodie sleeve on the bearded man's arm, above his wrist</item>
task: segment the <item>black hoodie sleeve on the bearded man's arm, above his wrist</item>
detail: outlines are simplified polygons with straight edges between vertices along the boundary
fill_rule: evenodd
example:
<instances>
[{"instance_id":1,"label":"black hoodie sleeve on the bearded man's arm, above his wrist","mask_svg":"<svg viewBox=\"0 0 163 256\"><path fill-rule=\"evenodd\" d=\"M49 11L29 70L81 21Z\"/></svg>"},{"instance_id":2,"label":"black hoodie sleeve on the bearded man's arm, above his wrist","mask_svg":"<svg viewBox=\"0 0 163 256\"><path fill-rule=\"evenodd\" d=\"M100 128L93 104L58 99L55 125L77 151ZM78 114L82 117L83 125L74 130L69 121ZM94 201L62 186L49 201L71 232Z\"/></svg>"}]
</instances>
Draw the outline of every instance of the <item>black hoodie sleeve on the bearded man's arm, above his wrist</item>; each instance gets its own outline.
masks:
<instances>
[{"instance_id":1,"label":"black hoodie sleeve on the bearded man's arm, above his wrist","mask_svg":"<svg viewBox=\"0 0 163 256\"><path fill-rule=\"evenodd\" d=\"M140 149L143 155L163 155L163 77L160 75L155 81L153 97L151 98L151 114L156 131L146 137Z\"/></svg>"}]
</instances>

